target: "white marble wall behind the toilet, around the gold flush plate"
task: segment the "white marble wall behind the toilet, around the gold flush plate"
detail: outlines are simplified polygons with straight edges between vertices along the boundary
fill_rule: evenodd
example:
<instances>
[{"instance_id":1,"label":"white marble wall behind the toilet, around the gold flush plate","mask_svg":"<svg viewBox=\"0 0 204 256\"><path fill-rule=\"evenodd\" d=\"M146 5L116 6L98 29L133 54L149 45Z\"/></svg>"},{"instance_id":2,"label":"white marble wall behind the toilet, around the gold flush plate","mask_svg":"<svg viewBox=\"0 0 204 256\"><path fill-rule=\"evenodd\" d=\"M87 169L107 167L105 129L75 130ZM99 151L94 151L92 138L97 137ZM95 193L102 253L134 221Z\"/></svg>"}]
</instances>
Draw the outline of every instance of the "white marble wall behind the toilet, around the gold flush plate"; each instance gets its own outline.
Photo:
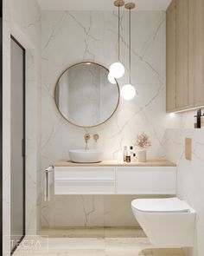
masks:
<instances>
[{"instance_id":1,"label":"white marble wall behind the toilet, around the gold flush plate","mask_svg":"<svg viewBox=\"0 0 204 256\"><path fill-rule=\"evenodd\" d=\"M185 159L185 138L192 139L192 160ZM167 157L177 164L177 195L196 212L194 252L204 254L204 129L168 129L166 132Z\"/></svg>"}]
</instances>

